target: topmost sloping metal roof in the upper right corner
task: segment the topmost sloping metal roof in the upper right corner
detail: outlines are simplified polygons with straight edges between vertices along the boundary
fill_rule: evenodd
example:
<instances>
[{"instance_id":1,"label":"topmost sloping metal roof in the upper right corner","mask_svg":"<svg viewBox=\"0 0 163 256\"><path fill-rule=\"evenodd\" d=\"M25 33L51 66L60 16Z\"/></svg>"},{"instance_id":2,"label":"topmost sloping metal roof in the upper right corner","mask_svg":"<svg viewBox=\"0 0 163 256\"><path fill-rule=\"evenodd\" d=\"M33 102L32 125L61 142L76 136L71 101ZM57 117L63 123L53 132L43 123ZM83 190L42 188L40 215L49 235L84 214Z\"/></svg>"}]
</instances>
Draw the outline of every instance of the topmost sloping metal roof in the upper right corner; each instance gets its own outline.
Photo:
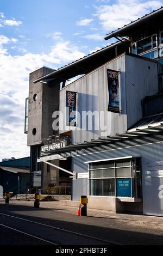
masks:
<instances>
[{"instance_id":1,"label":"topmost sloping metal roof in the upper right corner","mask_svg":"<svg viewBox=\"0 0 163 256\"><path fill-rule=\"evenodd\" d=\"M162 15L162 13L163 7L161 6L159 9L152 11L152 13L146 14L135 21L131 21L129 24L124 25L122 28L118 28L116 31L112 31L111 33L107 34L104 39L108 40L114 36L127 36L125 33L129 32L130 29L133 30L133 28L142 25L142 23L147 22L156 16Z\"/></svg>"}]
</instances>

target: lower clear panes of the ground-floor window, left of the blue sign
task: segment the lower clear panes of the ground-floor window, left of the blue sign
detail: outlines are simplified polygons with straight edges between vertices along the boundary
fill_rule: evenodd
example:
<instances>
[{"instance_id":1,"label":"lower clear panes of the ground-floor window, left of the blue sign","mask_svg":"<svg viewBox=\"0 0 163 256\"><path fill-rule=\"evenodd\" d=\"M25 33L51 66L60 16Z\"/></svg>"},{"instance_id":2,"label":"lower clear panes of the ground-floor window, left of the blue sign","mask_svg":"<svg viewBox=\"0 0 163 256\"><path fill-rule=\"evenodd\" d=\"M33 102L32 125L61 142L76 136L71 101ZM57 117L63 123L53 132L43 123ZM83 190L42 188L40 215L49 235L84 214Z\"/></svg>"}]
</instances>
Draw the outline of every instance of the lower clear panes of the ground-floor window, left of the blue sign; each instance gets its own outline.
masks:
<instances>
[{"instance_id":1,"label":"lower clear panes of the ground-floor window, left of the blue sign","mask_svg":"<svg viewBox=\"0 0 163 256\"><path fill-rule=\"evenodd\" d=\"M115 196L115 179L90 180L90 196Z\"/></svg>"}]
</instances>

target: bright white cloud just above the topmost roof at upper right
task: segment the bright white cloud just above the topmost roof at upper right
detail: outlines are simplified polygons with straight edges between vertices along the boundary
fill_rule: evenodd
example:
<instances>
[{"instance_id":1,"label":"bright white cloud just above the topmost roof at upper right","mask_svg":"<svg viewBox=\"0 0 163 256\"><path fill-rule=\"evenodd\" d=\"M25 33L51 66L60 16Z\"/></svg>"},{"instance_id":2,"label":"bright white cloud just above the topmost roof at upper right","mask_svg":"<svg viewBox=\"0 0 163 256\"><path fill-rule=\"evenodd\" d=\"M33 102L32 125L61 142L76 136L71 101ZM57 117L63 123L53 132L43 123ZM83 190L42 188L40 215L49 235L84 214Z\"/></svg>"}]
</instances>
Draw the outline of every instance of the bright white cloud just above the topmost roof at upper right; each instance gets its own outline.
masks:
<instances>
[{"instance_id":1,"label":"bright white cloud just above the topmost roof at upper right","mask_svg":"<svg viewBox=\"0 0 163 256\"><path fill-rule=\"evenodd\" d=\"M95 16L98 17L105 31L111 31L151 13L152 10L160 8L161 4L161 1L116 0L114 4L96 7Z\"/></svg>"}]
</instances>

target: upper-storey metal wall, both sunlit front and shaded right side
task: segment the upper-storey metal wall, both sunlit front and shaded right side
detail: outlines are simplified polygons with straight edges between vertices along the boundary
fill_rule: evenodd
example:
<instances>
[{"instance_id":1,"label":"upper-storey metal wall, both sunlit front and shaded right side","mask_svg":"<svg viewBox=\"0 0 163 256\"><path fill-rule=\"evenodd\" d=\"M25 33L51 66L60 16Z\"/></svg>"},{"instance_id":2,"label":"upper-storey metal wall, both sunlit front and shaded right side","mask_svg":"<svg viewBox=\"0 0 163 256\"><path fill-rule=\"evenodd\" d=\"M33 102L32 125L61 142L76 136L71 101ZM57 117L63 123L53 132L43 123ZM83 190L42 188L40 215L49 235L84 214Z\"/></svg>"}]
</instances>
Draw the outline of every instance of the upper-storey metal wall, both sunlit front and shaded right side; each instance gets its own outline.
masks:
<instances>
[{"instance_id":1,"label":"upper-storey metal wall, both sunlit front and shaded right side","mask_svg":"<svg viewBox=\"0 0 163 256\"><path fill-rule=\"evenodd\" d=\"M108 110L108 81L106 69L120 71L120 109L122 114L109 112ZM122 56L111 60L102 67L92 71L90 74L71 83L60 91L60 111L63 113L60 118L60 133L66 130L73 131L73 143L90 141L102 136L115 135L125 132L131 125L142 118L141 100L147 95L158 92L157 64L151 60L139 57ZM106 125L106 132L103 133L101 121L99 130L81 130L82 126L77 121L77 127L68 127L65 124L65 103L66 90L77 92L78 112L103 111ZM92 123L92 121L91 121ZM95 124L94 124L95 125Z\"/></svg>"}]
</instances>

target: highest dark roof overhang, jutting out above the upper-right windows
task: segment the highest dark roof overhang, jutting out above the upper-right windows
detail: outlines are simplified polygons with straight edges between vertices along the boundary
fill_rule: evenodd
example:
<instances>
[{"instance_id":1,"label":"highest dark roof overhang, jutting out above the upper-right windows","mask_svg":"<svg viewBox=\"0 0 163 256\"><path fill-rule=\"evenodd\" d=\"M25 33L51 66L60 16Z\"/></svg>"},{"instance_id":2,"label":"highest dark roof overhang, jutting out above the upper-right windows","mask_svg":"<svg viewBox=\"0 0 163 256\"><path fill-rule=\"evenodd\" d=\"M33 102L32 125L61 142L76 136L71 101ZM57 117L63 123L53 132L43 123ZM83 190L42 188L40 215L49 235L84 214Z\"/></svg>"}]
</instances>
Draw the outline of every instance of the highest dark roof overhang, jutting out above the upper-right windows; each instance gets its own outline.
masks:
<instances>
[{"instance_id":1,"label":"highest dark roof overhang, jutting out above the upper-right windows","mask_svg":"<svg viewBox=\"0 0 163 256\"><path fill-rule=\"evenodd\" d=\"M153 21L154 19L158 19L158 17L161 17L163 14L163 7L161 7L158 10L153 11L150 14L147 14L140 19L137 19L128 25L124 25L122 28L118 28L116 31L112 31L108 35L105 36L105 40L108 40L110 38L113 38L115 36L129 36L131 32L134 32L137 28L142 28L142 25L145 24L147 26L147 22ZM134 30L133 30L134 29Z\"/></svg>"}]
</instances>

